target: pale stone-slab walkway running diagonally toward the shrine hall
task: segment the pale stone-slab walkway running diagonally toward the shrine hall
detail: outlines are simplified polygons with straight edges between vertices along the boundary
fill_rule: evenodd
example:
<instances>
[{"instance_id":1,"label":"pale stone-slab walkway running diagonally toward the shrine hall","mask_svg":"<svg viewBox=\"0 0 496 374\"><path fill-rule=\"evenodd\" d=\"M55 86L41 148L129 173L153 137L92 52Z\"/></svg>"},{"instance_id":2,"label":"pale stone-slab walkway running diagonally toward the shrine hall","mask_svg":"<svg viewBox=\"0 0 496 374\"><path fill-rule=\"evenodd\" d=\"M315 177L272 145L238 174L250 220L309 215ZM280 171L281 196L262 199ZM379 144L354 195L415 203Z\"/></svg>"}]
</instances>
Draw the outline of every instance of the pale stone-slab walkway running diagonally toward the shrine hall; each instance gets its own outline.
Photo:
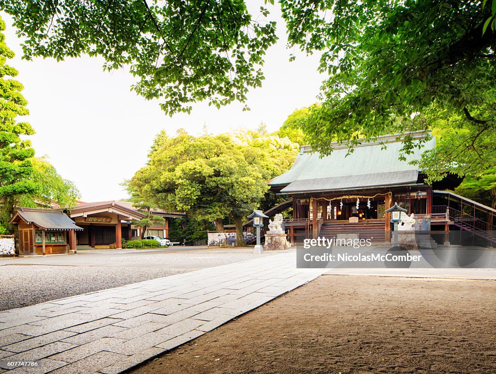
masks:
<instances>
[{"instance_id":1,"label":"pale stone-slab walkway running diagonally toward the shrine hall","mask_svg":"<svg viewBox=\"0 0 496 374\"><path fill-rule=\"evenodd\" d=\"M0 373L121 373L325 271L293 251L0 312Z\"/></svg>"}]
</instances>

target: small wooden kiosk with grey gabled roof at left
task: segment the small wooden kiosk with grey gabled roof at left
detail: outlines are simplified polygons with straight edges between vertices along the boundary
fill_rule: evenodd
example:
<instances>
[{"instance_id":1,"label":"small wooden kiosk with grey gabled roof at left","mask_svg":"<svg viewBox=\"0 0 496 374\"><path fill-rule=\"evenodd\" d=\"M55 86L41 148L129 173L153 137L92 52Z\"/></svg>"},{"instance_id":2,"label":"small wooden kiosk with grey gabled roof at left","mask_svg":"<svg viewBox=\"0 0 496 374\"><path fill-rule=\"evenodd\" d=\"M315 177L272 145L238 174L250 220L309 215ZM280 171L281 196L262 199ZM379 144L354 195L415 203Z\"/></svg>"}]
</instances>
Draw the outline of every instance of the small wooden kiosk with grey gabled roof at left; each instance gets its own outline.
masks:
<instances>
[{"instance_id":1,"label":"small wooden kiosk with grey gabled roof at left","mask_svg":"<svg viewBox=\"0 0 496 374\"><path fill-rule=\"evenodd\" d=\"M63 254L76 248L76 226L62 210L21 208L9 221L15 225L19 255Z\"/></svg>"}]
</instances>

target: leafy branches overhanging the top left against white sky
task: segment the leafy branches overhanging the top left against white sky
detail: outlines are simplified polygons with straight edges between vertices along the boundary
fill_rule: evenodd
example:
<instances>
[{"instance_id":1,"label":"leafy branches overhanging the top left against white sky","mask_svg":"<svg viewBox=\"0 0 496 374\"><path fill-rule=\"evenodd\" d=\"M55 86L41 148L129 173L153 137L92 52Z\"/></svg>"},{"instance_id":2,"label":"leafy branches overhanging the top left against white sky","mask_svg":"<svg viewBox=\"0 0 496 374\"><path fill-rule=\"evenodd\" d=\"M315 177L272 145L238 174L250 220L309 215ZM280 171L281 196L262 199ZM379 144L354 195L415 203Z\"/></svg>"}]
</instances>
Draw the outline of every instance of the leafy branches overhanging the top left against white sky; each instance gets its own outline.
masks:
<instances>
[{"instance_id":1,"label":"leafy branches overhanging the top left against white sky","mask_svg":"<svg viewBox=\"0 0 496 374\"><path fill-rule=\"evenodd\" d=\"M0 9L25 38L26 59L88 54L109 71L128 65L138 78L132 88L164 100L169 114L199 100L245 101L277 40L267 9L252 17L239 0L4 0Z\"/></svg>"}]
</instances>

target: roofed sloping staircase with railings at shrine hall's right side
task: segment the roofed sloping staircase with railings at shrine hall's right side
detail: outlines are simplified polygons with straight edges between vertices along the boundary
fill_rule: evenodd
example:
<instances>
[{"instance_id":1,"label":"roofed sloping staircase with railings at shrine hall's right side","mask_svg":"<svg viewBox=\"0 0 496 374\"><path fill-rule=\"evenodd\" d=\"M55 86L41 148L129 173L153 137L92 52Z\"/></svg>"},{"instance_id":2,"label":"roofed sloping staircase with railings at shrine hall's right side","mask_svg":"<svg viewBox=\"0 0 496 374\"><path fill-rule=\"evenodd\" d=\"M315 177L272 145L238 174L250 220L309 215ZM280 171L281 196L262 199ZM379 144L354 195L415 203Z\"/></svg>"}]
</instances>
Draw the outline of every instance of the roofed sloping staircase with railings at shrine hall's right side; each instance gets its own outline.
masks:
<instances>
[{"instance_id":1,"label":"roofed sloping staircase with railings at shrine hall's right side","mask_svg":"<svg viewBox=\"0 0 496 374\"><path fill-rule=\"evenodd\" d=\"M433 205L433 214L447 212L449 220L460 230L465 230L496 244L496 210L467 199L450 191L433 191L435 202L444 205Z\"/></svg>"}]
</instances>

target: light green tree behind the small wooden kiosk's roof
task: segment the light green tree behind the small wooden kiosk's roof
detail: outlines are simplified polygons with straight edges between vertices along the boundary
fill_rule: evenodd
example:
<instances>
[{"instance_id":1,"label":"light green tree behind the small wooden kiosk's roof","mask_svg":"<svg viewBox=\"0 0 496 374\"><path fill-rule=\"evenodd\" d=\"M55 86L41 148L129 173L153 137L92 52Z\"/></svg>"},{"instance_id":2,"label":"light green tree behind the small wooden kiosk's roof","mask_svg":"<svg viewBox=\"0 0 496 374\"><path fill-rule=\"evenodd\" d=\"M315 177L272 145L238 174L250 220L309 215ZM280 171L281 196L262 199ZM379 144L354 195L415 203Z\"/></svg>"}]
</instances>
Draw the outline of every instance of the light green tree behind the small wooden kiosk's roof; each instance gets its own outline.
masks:
<instances>
[{"instance_id":1,"label":"light green tree behind the small wooden kiosk's roof","mask_svg":"<svg viewBox=\"0 0 496 374\"><path fill-rule=\"evenodd\" d=\"M51 208L57 204L62 208L72 208L80 199L79 190L70 180L62 178L46 157L31 159L33 174L31 180L36 183L36 193L23 194L17 204L27 208Z\"/></svg>"}]
</instances>

